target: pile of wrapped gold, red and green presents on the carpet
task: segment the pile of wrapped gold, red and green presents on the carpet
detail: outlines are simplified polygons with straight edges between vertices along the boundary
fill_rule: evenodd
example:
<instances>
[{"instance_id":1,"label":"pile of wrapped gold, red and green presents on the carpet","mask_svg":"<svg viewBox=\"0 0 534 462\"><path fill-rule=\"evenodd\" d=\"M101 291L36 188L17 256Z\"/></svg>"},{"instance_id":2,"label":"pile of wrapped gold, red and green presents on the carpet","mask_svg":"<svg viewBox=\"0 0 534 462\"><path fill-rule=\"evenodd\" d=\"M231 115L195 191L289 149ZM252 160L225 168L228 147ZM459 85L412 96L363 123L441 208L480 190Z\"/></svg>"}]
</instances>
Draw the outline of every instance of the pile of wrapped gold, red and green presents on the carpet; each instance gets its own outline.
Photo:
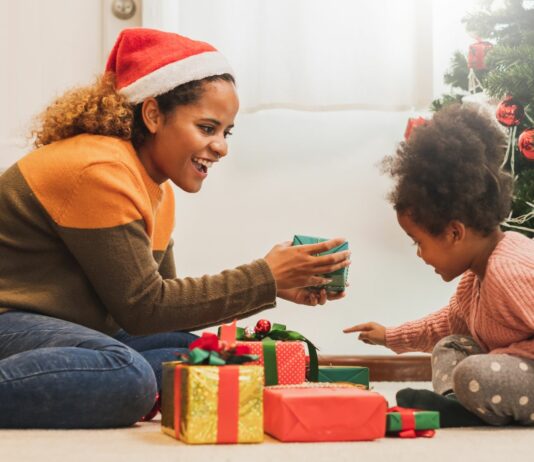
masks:
<instances>
[{"instance_id":1,"label":"pile of wrapped gold, red and green presents on the carpet","mask_svg":"<svg viewBox=\"0 0 534 462\"><path fill-rule=\"evenodd\" d=\"M344 271L330 277L333 290L343 290ZM204 333L179 359L163 364L161 424L184 443L370 441L439 427L437 412L388 409L367 368L319 366L307 338L267 320Z\"/></svg>"}]
</instances>

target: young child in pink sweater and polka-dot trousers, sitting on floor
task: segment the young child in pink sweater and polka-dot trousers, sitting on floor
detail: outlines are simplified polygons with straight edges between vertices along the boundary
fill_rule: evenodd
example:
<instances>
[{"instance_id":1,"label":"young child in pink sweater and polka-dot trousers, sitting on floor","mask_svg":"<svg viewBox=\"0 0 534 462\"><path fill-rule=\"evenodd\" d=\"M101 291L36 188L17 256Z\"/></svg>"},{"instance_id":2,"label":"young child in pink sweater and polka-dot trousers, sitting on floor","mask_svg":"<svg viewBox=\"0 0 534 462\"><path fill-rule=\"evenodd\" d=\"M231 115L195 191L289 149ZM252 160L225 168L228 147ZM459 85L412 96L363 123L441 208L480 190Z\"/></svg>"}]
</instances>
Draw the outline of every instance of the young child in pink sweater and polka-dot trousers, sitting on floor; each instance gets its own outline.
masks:
<instances>
[{"instance_id":1,"label":"young child in pink sweater and polka-dot trousers, sitting on floor","mask_svg":"<svg viewBox=\"0 0 534 462\"><path fill-rule=\"evenodd\" d=\"M404 389L397 403L439 410L444 427L534 425L534 241L499 227L511 202L503 155L490 119L451 106L386 158L390 199L417 255L444 281L462 278L423 319L344 330L397 353L432 352L435 392Z\"/></svg>"}]
</instances>

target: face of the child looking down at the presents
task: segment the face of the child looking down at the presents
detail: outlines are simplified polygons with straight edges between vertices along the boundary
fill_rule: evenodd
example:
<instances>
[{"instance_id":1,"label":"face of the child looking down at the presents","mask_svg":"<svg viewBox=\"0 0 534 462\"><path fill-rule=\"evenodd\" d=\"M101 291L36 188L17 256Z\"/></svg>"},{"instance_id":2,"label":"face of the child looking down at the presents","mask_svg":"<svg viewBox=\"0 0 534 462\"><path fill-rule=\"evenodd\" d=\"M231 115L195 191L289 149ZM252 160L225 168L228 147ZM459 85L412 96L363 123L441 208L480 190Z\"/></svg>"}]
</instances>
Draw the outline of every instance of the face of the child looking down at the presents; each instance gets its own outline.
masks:
<instances>
[{"instance_id":1,"label":"face of the child looking down at the presents","mask_svg":"<svg viewBox=\"0 0 534 462\"><path fill-rule=\"evenodd\" d=\"M442 234L434 236L417 225L409 213L397 213L397 220L417 245L417 256L432 266L444 281L452 281L469 269L468 253L454 225L447 226Z\"/></svg>"}]
</instances>

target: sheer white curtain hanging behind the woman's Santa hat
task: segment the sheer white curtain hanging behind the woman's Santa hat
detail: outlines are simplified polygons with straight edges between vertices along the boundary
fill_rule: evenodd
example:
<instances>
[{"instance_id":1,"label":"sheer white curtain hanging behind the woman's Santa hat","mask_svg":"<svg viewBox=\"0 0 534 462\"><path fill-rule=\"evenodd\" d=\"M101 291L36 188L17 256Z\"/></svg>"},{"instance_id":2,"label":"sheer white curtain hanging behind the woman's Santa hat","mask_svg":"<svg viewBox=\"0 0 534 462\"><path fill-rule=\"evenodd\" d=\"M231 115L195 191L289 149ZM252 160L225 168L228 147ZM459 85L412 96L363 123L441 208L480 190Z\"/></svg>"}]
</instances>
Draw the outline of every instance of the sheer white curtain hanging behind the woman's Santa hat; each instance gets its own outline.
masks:
<instances>
[{"instance_id":1,"label":"sheer white curtain hanging behind the woman's Santa hat","mask_svg":"<svg viewBox=\"0 0 534 462\"><path fill-rule=\"evenodd\" d=\"M427 108L435 18L431 0L143 0L144 27L228 58L242 112Z\"/></svg>"}]
</instances>

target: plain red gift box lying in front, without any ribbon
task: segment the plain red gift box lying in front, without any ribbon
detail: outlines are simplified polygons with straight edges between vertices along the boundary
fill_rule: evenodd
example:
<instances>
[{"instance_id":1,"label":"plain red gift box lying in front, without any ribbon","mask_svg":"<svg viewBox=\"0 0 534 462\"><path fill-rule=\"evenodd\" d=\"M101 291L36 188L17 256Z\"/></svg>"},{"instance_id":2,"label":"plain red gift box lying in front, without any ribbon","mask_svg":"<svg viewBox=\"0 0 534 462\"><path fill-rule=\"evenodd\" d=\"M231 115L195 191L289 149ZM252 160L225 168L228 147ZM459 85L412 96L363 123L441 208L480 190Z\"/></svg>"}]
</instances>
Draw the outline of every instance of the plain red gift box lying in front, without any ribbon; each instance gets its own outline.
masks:
<instances>
[{"instance_id":1,"label":"plain red gift box lying in front, without any ribbon","mask_svg":"<svg viewBox=\"0 0 534 462\"><path fill-rule=\"evenodd\" d=\"M341 384L268 387L264 430L280 441L369 441L386 434L386 399Z\"/></svg>"}]
</instances>

